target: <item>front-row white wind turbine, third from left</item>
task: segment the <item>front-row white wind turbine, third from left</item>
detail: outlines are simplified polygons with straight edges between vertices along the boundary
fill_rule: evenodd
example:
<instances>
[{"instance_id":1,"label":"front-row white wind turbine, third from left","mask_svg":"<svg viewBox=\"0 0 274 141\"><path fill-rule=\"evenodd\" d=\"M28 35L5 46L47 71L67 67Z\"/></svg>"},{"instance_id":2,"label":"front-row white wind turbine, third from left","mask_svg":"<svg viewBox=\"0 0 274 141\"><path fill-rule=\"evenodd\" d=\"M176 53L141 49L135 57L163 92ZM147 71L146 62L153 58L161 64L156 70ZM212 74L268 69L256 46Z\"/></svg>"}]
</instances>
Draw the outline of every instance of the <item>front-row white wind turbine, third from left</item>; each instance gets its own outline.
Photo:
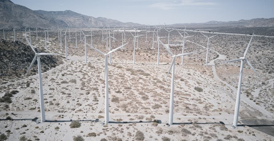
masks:
<instances>
[{"instance_id":1,"label":"front-row white wind turbine, third from left","mask_svg":"<svg viewBox=\"0 0 274 141\"><path fill-rule=\"evenodd\" d=\"M160 41L160 40L159 40ZM170 103L169 103L169 120L168 120L168 124L173 124L173 106L174 106L174 74L175 74L175 59L176 57L182 56L182 55L188 55L188 54L192 54L192 53L196 53L196 52L189 52L189 53L183 53L183 54L178 54L178 55L174 55L167 46L165 46L162 41L160 41L160 43L164 46L164 48L168 51L168 53L170 55L172 55L172 62L170 64L170 68L168 70L168 74L170 72L170 70L172 69L172 76L171 76L171 89L170 89ZM167 79L168 74L166 76L165 79Z\"/></svg>"}]
</instances>

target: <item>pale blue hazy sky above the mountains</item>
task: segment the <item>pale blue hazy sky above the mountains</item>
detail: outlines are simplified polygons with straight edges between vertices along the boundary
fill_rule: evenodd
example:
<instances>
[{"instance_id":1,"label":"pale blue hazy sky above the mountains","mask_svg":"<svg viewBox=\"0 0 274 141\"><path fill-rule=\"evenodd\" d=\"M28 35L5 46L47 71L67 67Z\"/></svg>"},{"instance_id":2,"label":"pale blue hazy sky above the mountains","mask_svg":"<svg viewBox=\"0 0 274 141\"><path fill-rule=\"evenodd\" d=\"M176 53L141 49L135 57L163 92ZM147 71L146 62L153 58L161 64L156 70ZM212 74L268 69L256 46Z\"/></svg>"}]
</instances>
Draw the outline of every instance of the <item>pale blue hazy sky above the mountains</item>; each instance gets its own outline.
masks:
<instances>
[{"instance_id":1,"label":"pale blue hazy sky above the mountains","mask_svg":"<svg viewBox=\"0 0 274 141\"><path fill-rule=\"evenodd\" d=\"M32 10L159 25L274 17L274 0L11 0Z\"/></svg>"}]
</instances>

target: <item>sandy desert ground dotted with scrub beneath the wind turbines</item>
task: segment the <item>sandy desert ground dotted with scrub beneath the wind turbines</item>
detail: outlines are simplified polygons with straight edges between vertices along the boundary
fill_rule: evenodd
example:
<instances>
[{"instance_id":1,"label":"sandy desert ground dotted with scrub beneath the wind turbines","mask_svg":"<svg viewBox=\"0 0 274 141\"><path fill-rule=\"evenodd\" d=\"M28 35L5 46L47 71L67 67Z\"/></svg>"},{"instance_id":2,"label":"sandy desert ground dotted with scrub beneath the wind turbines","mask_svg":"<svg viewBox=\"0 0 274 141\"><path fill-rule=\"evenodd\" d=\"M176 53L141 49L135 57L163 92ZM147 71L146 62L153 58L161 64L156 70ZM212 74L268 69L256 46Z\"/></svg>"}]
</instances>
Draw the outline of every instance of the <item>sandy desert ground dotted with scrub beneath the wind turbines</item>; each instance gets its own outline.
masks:
<instances>
[{"instance_id":1,"label":"sandy desert ground dotted with scrub beneath the wind turbines","mask_svg":"<svg viewBox=\"0 0 274 141\"><path fill-rule=\"evenodd\" d=\"M125 42L128 44L111 54L111 63L108 65L110 122L104 125L101 125L105 120L104 56L87 46L85 63L83 34L80 40L77 30L75 48L75 29L71 29L70 41L67 33L66 60L64 36L60 47L57 30L49 30L45 48L44 33L39 31L36 40L33 30L33 46L58 54L53 57L59 60L56 66L50 68L42 63L46 122L36 123L41 120L37 62L25 75L31 59L19 75L0 76L0 96L11 93L10 103L0 103L1 139L274 140L273 37L253 37L246 59L260 78L245 64L238 126L231 128L240 62L222 61L241 57L251 36L214 36L210 39L206 66L207 39L199 32L187 32L187 36L193 37L186 39L184 52L199 52L184 56L184 65L181 65L181 57L175 60L174 124L167 127L171 74L165 78L172 56L160 44L160 64L157 65L158 43L155 36L152 49L151 31L154 29L147 32L147 36L143 29L138 33L144 35L138 37L138 49L135 43L135 64L133 36L129 29L125 30ZM117 41L111 40L112 49L122 45L122 28L115 31L114 38ZM83 29L83 32L90 35L91 29ZM13 32L5 33L6 40L13 43ZM105 39L106 31L103 34ZM160 40L168 45L168 32L160 29L158 34L166 37ZM92 35L92 45L104 53L109 52L106 40L102 41L102 29L94 28ZM215 34L209 32L205 35ZM110 36L113 36L113 32ZM17 31L16 38L27 44L24 31ZM182 46L178 45L182 38L177 30L170 32L169 40L172 53L182 53ZM91 44L91 36L87 36L86 41Z\"/></svg>"}]
</instances>

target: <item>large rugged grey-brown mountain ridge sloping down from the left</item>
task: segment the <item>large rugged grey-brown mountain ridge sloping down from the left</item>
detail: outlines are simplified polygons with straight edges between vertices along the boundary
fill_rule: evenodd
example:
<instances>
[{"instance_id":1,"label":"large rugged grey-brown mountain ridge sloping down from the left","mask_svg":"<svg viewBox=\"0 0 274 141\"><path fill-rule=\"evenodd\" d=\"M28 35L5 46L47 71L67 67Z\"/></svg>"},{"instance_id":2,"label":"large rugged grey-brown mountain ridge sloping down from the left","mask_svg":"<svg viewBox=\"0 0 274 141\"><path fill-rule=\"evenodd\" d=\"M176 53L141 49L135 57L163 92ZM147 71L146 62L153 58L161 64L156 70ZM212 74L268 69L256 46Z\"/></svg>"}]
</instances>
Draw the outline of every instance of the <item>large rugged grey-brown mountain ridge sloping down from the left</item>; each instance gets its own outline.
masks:
<instances>
[{"instance_id":1,"label":"large rugged grey-brown mountain ridge sloping down from the left","mask_svg":"<svg viewBox=\"0 0 274 141\"><path fill-rule=\"evenodd\" d=\"M25 6L14 4L10 0L0 0L0 28L22 28L22 27L38 27L38 28L57 28L59 27L103 27L108 25L111 27L131 27L143 26L141 24L127 22L123 23L117 20L107 19L104 17L91 17L82 15L71 10L65 11L43 11L31 10Z\"/></svg>"}]
</instances>

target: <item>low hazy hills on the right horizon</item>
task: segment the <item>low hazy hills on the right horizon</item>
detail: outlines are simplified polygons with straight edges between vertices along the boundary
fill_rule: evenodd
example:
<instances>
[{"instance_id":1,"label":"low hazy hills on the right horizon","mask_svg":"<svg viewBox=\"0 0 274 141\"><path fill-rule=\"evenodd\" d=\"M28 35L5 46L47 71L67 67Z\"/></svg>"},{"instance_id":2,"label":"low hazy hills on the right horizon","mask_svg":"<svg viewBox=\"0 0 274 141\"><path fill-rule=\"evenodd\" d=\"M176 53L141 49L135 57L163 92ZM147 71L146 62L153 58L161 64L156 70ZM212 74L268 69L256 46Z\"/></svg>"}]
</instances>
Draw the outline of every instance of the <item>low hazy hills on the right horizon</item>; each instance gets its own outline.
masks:
<instances>
[{"instance_id":1,"label":"low hazy hills on the right horizon","mask_svg":"<svg viewBox=\"0 0 274 141\"><path fill-rule=\"evenodd\" d=\"M181 23L173 25L273 27L274 18L256 18L239 21L208 21L204 23Z\"/></svg>"}]
</instances>

